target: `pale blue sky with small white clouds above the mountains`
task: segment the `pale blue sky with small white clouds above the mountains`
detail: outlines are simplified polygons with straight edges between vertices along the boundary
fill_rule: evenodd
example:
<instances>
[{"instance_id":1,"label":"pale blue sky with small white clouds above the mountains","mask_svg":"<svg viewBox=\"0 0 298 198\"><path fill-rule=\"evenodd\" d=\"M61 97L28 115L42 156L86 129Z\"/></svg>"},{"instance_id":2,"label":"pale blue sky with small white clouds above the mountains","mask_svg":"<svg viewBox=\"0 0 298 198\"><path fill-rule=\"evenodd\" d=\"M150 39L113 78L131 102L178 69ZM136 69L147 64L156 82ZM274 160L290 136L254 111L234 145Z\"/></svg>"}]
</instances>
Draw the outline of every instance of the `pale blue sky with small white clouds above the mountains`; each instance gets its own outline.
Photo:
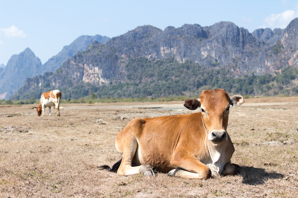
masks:
<instances>
[{"instance_id":1,"label":"pale blue sky with small white clouds above the mountains","mask_svg":"<svg viewBox=\"0 0 298 198\"><path fill-rule=\"evenodd\" d=\"M252 32L285 28L297 17L297 0L0 0L0 64L26 47L44 64L81 35L112 38L143 25L230 21Z\"/></svg>"}]
</instances>

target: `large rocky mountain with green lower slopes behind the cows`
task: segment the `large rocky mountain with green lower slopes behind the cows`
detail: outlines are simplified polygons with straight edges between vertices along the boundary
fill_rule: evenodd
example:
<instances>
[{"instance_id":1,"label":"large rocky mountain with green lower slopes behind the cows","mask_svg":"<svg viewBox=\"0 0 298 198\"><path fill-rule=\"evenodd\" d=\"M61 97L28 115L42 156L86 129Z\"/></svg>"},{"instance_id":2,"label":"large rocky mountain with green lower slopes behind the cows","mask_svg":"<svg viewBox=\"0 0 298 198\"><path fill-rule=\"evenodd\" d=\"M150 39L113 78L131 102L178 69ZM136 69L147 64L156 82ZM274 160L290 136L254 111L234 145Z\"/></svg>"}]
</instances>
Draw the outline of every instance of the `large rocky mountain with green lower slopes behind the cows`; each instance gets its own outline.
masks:
<instances>
[{"instance_id":1,"label":"large rocky mountain with green lower slopes behind the cows","mask_svg":"<svg viewBox=\"0 0 298 198\"><path fill-rule=\"evenodd\" d=\"M251 95L295 94L297 28L298 18L283 30L253 33L224 21L164 30L139 26L105 44L93 42L55 72L27 79L13 99L38 98L55 88L64 98L74 99L92 93L99 97L191 95L212 87Z\"/></svg>"}]
</instances>

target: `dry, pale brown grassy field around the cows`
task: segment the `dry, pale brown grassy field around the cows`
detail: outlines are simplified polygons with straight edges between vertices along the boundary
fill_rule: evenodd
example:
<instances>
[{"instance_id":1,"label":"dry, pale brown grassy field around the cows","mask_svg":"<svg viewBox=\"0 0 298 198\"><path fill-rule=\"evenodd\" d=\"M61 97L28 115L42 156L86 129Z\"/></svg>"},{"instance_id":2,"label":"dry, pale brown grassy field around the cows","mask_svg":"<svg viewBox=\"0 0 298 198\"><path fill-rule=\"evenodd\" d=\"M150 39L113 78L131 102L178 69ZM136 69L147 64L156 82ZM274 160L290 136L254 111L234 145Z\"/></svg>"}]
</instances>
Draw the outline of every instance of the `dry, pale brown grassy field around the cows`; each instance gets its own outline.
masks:
<instances>
[{"instance_id":1,"label":"dry, pale brown grassy field around the cows","mask_svg":"<svg viewBox=\"0 0 298 198\"><path fill-rule=\"evenodd\" d=\"M0 197L298 197L298 97L254 98L231 108L237 175L208 180L119 176L117 134L133 118L193 113L184 102L0 106ZM159 107L159 108L153 108Z\"/></svg>"}]
</instances>

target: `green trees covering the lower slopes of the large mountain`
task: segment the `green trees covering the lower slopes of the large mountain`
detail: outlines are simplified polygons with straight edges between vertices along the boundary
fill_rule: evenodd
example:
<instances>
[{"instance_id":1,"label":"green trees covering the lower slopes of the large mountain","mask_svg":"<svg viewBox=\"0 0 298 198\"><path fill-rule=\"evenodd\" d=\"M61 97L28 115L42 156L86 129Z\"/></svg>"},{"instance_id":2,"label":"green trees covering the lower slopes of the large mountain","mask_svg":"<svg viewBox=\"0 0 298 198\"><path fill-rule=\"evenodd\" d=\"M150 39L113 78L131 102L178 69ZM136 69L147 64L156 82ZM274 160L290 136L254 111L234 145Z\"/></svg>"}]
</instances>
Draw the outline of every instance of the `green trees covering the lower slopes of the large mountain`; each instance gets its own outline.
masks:
<instances>
[{"instance_id":1,"label":"green trees covering the lower slopes of the large mountain","mask_svg":"<svg viewBox=\"0 0 298 198\"><path fill-rule=\"evenodd\" d=\"M195 97L203 89L223 88L228 93L243 95L297 95L298 69L284 67L274 75L254 74L233 77L233 72L225 68L205 68L191 61L178 63L172 58L150 60L143 57L128 61L129 68L125 83L114 82L108 85L95 86L82 81L69 88L61 88L63 99L79 99L86 96L95 98L160 98L169 96ZM52 75L49 72L48 75ZM52 90L49 83L35 87L30 96L19 90L18 97L26 99L40 97L41 89ZM29 94L29 93L28 93Z\"/></svg>"}]
</instances>

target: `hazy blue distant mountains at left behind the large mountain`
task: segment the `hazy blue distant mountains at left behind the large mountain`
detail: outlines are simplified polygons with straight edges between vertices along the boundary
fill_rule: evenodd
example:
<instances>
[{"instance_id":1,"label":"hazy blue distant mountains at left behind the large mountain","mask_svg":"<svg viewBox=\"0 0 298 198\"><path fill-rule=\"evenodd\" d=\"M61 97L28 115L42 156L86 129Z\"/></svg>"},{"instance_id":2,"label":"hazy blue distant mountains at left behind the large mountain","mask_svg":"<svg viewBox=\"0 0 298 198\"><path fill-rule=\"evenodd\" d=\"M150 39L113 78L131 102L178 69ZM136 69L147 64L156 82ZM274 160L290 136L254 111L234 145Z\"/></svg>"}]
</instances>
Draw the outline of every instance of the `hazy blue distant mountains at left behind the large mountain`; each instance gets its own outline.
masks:
<instances>
[{"instance_id":1,"label":"hazy blue distant mountains at left behind the large mountain","mask_svg":"<svg viewBox=\"0 0 298 198\"><path fill-rule=\"evenodd\" d=\"M9 99L13 93L24 85L28 77L43 75L45 72L54 72L75 53L86 50L87 46L93 41L105 43L108 40L108 37L100 35L80 36L70 45L64 46L61 52L50 58L44 65L29 48L26 48L24 52L18 55L13 55L7 66L0 67L0 99Z\"/></svg>"}]
</instances>

